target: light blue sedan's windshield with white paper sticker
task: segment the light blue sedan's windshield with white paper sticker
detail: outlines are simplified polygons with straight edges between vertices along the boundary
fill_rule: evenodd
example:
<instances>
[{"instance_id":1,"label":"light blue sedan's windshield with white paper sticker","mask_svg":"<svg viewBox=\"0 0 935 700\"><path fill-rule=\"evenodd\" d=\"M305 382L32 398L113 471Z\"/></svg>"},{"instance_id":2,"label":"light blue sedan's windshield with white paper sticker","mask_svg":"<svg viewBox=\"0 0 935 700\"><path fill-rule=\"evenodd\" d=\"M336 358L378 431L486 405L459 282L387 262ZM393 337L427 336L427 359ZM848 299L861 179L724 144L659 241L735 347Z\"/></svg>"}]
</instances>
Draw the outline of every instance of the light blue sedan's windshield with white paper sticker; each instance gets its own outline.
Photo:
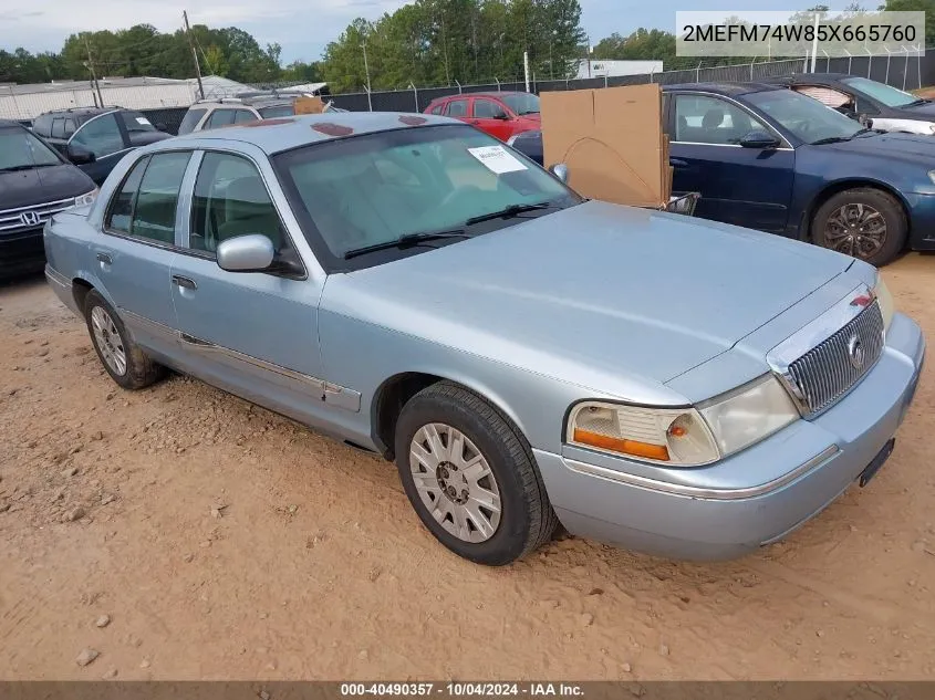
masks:
<instances>
[{"instance_id":1,"label":"light blue sedan's windshield with white paper sticker","mask_svg":"<svg viewBox=\"0 0 935 700\"><path fill-rule=\"evenodd\" d=\"M344 255L361 248L427 232L487 233L581 201L502 142L461 125L311 144L276 156L274 163L310 244L333 269L349 269ZM528 205L543 207L469 221ZM350 268L425 250L428 248L374 252L355 258Z\"/></svg>"}]
</instances>

